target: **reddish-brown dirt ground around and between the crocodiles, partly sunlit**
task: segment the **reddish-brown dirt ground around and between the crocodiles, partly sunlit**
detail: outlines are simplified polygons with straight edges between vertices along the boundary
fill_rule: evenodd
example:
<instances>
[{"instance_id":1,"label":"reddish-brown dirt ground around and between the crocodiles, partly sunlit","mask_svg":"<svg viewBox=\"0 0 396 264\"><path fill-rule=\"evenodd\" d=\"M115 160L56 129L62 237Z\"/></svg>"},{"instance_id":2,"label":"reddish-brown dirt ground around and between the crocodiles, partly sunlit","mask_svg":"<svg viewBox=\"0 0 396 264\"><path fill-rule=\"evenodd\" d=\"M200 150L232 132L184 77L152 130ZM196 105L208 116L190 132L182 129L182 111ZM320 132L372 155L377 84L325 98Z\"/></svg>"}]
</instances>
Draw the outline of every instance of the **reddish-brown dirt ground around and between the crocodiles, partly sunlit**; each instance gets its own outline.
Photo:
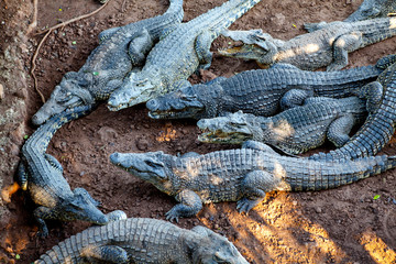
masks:
<instances>
[{"instance_id":1,"label":"reddish-brown dirt ground around and between the crocodiles, partly sunlit","mask_svg":"<svg viewBox=\"0 0 396 264\"><path fill-rule=\"evenodd\" d=\"M226 0L185 0L185 18L189 21ZM0 1L6 14L7 1ZM287 40L304 33L304 22L333 21L346 18L361 0L263 0L231 29L261 28L275 37ZM94 0L38 1L37 31L99 8ZM78 70L98 45L100 31L158 15L167 0L111 0L98 14L72 23L52 33L36 59L38 88L48 98L62 76ZM11 12L11 10L9 10ZM28 20L28 19L26 19ZM32 36L36 45L43 35ZM6 41L6 38L0 40ZM230 40L219 37L212 44L212 66L207 76L230 77L257 68L254 62L223 58L217 50ZM33 50L31 50L33 51ZM374 64L380 57L396 53L396 38L350 54L348 67ZM26 56L30 67L32 52ZM26 121L42 106L30 79ZM30 133L34 131L30 127ZM29 134L30 134L29 133ZM112 166L112 152L147 152L162 150L177 154L195 151L207 153L224 148L199 143L193 120L155 121L144 106L110 112L102 105L86 118L73 121L54 136L48 153L64 166L64 175L73 188L84 187L102 202L102 210L124 210L129 217L164 219L176 201L150 184ZM396 155L395 144L382 153ZM330 148L330 144L326 146ZM374 199L380 196L378 199ZM59 241L89 224L50 221L50 237L36 239L32 205L21 191L7 205L11 221L0 244L0 263L31 263ZM396 263L396 170L356 184L317 193L272 193L249 216L235 210L235 202L208 205L197 218L180 219L178 226L197 224L228 237L250 263Z\"/></svg>"}]
</instances>

